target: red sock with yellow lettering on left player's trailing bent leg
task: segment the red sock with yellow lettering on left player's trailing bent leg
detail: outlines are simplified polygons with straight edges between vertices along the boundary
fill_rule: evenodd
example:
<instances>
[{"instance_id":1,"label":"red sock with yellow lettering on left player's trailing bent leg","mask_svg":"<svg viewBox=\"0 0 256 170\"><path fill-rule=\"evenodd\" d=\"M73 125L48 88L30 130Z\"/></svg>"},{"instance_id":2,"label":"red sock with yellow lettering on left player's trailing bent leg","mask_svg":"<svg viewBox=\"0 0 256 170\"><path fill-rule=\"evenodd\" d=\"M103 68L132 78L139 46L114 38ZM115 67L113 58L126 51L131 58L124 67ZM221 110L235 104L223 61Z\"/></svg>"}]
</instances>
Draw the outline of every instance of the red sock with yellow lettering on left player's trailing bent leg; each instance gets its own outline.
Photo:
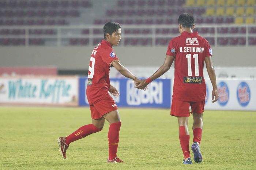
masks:
<instances>
[{"instance_id":1,"label":"red sock with yellow lettering on left player's trailing bent leg","mask_svg":"<svg viewBox=\"0 0 256 170\"><path fill-rule=\"evenodd\" d=\"M66 144L69 145L73 141L82 139L88 135L91 135L92 133L96 133L101 130L102 129L97 128L93 124L84 125L66 137Z\"/></svg>"}]
</instances>

